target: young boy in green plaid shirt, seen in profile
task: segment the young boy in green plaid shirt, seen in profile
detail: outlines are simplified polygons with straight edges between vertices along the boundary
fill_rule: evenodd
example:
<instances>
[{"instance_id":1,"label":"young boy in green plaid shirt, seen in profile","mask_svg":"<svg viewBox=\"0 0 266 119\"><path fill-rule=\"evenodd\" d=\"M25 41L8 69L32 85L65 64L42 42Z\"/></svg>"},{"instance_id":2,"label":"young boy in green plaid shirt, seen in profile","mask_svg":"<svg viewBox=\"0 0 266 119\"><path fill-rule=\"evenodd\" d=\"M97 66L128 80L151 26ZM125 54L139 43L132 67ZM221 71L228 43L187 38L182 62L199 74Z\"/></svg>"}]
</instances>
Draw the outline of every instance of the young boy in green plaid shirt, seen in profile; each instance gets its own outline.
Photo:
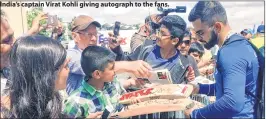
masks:
<instances>
[{"instance_id":1,"label":"young boy in green plaid shirt, seen in profile","mask_svg":"<svg viewBox=\"0 0 266 119\"><path fill-rule=\"evenodd\" d=\"M63 113L70 117L96 118L98 112L122 109L119 97L126 93L115 78L116 55L99 46L89 46L81 56L81 67L86 74L82 85L64 102Z\"/></svg>"}]
</instances>

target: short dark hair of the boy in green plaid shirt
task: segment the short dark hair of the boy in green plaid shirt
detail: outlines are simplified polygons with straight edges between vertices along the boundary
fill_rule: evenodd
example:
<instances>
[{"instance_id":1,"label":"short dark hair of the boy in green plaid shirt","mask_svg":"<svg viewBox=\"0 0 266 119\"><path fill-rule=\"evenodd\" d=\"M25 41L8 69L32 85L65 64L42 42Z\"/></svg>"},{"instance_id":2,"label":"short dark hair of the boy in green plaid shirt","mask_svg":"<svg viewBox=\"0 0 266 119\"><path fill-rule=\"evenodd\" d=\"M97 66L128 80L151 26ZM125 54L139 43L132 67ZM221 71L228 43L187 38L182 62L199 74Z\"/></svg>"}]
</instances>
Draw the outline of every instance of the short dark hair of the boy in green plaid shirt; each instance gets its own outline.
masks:
<instances>
[{"instance_id":1,"label":"short dark hair of the boy in green plaid shirt","mask_svg":"<svg viewBox=\"0 0 266 119\"><path fill-rule=\"evenodd\" d=\"M115 58L116 55L107 48L100 46L85 48L81 55L81 67L86 78L91 79L95 70L104 71L108 63L114 62Z\"/></svg>"}]
</instances>

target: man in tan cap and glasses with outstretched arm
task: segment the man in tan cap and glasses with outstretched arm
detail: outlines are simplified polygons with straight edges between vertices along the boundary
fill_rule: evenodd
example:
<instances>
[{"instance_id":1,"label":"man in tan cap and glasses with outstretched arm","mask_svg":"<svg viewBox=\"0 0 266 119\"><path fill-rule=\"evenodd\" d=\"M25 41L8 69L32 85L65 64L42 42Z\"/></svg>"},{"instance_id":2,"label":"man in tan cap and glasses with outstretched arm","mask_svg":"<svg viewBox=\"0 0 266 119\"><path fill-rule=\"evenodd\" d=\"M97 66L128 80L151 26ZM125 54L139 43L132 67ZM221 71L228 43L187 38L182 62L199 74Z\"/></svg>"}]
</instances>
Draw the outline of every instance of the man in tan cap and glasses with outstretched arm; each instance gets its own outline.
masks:
<instances>
[{"instance_id":1,"label":"man in tan cap and glasses with outstretched arm","mask_svg":"<svg viewBox=\"0 0 266 119\"><path fill-rule=\"evenodd\" d=\"M75 47L67 50L68 57L71 58L69 63L70 74L67 80L67 93L70 94L77 89L85 74L80 65L82 51L88 46L96 46L98 39L98 31L96 27L101 27L100 23L94 21L93 18L80 15L72 22L72 38L75 41ZM147 77L150 75L149 64L143 61L120 61L115 62L116 72L130 72L136 77ZM129 80L131 82L132 80Z\"/></svg>"}]
</instances>

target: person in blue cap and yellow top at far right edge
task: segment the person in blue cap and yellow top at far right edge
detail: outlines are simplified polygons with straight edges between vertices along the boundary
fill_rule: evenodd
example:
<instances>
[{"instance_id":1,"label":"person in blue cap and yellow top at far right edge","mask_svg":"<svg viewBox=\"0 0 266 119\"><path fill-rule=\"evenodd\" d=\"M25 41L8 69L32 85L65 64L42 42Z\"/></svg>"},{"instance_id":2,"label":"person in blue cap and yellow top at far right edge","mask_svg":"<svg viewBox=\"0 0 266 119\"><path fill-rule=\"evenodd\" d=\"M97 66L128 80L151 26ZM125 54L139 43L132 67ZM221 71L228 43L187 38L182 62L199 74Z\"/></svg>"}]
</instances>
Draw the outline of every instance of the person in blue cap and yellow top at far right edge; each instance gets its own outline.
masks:
<instances>
[{"instance_id":1,"label":"person in blue cap and yellow top at far right edge","mask_svg":"<svg viewBox=\"0 0 266 119\"><path fill-rule=\"evenodd\" d=\"M251 39L251 42L259 49L262 46L265 46L264 41L265 41L265 25L260 25L257 28L257 35L254 39Z\"/></svg>"}]
</instances>

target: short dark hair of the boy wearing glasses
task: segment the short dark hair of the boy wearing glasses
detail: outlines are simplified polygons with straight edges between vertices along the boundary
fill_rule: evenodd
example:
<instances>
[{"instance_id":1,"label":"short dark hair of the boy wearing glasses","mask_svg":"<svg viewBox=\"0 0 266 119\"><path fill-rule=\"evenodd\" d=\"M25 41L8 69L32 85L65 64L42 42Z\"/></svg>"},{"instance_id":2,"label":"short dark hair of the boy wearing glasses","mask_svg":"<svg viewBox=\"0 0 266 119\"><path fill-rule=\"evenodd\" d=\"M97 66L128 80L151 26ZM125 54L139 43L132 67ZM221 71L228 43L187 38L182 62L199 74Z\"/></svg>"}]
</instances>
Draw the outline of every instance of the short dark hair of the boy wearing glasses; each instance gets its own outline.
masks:
<instances>
[{"instance_id":1,"label":"short dark hair of the boy wearing glasses","mask_svg":"<svg viewBox=\"0 0 266 119\"><path fill-rule=\"evenodd\" d=\"M160 24L166 26L166 28L170 31L172 38L179 38L178 43L183 40L187 24L180 16L167 15L162 18Z\"/></svg>"}]
</instances>

